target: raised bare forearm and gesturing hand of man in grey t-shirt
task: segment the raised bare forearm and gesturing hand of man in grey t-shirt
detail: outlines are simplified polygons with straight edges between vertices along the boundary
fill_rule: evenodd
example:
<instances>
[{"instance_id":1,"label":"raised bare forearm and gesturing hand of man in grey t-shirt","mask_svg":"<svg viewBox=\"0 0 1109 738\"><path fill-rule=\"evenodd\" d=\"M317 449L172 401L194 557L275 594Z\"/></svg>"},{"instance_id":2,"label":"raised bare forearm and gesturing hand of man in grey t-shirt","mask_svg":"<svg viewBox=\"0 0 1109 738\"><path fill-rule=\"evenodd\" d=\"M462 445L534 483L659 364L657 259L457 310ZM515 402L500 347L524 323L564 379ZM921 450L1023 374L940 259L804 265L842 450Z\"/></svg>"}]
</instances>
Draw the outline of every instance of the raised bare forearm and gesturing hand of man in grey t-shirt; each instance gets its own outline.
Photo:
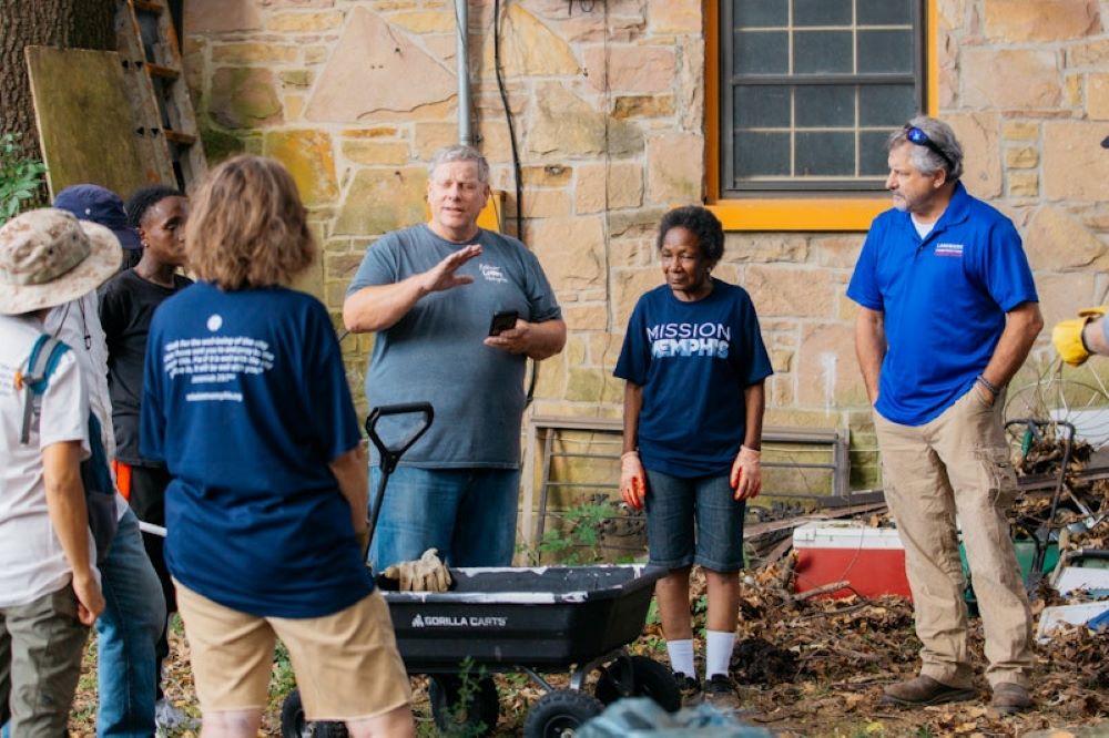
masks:
<instances>
[{"instance_id":1,"label":"raised bare forearm and gesturing hand of man in grey t-shirt","mask_svg":"<svg viewBox=\"0 0 1109 738\"><path fill-rule=\"evenodd\" d=\"M474 281L474 277L455 271L480 254L480 246L467 246L421 274L391 285L363 287L343 301L343 324L354 334L391 328L426 295Z\"/></svg>"}]
</instances>

